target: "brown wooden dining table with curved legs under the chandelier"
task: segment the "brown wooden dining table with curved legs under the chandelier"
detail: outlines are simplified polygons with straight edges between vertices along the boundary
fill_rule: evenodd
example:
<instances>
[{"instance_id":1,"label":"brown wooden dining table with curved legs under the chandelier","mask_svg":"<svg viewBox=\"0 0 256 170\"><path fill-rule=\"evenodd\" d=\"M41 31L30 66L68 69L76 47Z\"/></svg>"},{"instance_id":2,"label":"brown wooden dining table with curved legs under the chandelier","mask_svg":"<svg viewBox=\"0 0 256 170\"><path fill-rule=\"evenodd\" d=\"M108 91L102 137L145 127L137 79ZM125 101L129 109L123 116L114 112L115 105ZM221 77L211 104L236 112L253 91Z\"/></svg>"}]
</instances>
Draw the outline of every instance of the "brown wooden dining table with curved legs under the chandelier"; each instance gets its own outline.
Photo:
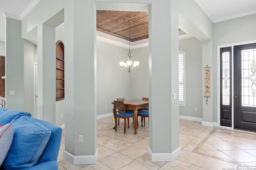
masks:
<instances>
[{"instance_id":1,"label":"brown wooden dining table with curved legs under the chandelier","mask_svg":"<svg viewBox=\"0 0 256 170\"><path fill-rule=\"evenodd\" d=\"M114 104L114 102L112 102L112 104ZM134 134L137 134L138 109L145 109L146 107L148 107L148 100L142 100L142 99L125 100L124 107L125 107L125 109L133 109L133 111L134 111L134 122L135 122L134 123ZM116 114L114 112L114 107L113 107L113 115L114 115L114 119L116 121ZM113 129L115 129L115 128L116 128L116 125L113 127Z\"/></svg>"}]
</instances>

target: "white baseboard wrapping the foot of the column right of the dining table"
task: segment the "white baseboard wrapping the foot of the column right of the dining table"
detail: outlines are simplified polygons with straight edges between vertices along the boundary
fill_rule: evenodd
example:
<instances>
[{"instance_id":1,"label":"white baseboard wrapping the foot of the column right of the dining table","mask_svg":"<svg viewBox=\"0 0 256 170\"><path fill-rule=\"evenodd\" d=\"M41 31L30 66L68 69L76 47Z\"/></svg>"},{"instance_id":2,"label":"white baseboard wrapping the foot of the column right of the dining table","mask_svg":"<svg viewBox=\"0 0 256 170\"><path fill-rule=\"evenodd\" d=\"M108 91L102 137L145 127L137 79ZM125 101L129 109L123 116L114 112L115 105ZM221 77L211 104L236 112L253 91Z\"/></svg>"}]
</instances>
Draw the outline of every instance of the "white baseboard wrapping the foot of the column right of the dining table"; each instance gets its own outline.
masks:
<instances>
[{"instance_id":1,"label":"white baseboard wrapping the foot of the column right of the dining table","mask_svg":"<svg viewBox=\"0 0 256 170\"><path fill-rule=\"evenodd\" d=\"M148 147L148 154L152 162L166 162L173 161L180 155L180 147L174 150L172 153L152 153L150 147Z\"/></svg>"}]
</instances>

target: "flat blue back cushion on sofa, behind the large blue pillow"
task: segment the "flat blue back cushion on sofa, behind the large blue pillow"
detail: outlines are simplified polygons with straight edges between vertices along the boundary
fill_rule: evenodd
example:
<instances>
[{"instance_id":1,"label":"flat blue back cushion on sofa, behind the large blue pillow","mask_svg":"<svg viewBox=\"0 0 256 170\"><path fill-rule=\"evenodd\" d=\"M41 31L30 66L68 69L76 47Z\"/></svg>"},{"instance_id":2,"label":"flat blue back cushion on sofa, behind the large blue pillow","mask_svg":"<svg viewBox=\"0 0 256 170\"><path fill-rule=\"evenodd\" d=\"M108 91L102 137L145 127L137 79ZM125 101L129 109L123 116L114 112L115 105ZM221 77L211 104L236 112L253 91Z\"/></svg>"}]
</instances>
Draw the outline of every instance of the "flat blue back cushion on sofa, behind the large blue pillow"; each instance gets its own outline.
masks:
<instances>
[{"instance_id":1,"label":"flat blue back cushion on sofa, behind the large blue pillow","mask_svg":"<svg viewBox=\"0 0 256 170\"><path fill-rule=\"evenodd\" d=\"M31 114L26 111L8 110L3 107L0 107L0 125L10 123L12 119L14 119L16 116L21 115L29 115L31 117Z\"/></svg>"}]
</instances>

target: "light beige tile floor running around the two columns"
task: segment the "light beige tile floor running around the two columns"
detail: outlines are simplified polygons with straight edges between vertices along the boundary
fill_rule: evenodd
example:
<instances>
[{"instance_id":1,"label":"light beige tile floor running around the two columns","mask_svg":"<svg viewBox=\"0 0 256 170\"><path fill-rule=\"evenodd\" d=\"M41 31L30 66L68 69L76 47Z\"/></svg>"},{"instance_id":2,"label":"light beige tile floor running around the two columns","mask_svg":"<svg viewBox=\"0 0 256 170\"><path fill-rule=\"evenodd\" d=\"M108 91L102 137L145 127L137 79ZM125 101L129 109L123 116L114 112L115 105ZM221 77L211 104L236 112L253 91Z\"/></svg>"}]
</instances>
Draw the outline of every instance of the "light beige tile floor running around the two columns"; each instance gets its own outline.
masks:
<instances>
[{"instance_id":1,"label":"light beige tile floor running around the two columns","mask_svg":"<svg viewBox=\"0 0 256 170\"><path fill-rule=\"evenodd\" d=\"M132 121L132 120L131 120ZM97 120L96 164L73 165L63 158L65 130L58 156L59 170L256 170L256 133L202 126L180 119L181 154L172 162L151 162L148 118L124 134L123 119L115 132L113 117ZM127 126L126 126L127 127Z\"/></svg>"}]
</instances>

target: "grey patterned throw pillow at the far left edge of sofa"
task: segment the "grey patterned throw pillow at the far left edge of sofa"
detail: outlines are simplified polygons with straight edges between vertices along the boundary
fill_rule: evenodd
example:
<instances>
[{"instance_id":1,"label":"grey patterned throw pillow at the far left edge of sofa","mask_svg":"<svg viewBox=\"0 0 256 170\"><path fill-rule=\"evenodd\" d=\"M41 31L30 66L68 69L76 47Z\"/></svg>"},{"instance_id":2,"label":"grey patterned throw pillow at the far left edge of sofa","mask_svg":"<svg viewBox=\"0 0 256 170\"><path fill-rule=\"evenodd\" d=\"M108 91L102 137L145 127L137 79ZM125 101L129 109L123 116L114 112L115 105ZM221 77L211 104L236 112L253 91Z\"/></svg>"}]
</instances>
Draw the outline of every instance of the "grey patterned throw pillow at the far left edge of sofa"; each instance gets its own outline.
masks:
<instances>
[{"instance_id":1,"label":"grey patterned throw pillow at the far left edge of sofa","mask_svg":"<svg viewBox=\"0 0 256 170\"><path fill-rule=\"evenodd\" d=\"M4 159L10 149L13 139L13 125L7 123L0 127L0 166L4 162Z\"/></svg>"}]
</instances>

